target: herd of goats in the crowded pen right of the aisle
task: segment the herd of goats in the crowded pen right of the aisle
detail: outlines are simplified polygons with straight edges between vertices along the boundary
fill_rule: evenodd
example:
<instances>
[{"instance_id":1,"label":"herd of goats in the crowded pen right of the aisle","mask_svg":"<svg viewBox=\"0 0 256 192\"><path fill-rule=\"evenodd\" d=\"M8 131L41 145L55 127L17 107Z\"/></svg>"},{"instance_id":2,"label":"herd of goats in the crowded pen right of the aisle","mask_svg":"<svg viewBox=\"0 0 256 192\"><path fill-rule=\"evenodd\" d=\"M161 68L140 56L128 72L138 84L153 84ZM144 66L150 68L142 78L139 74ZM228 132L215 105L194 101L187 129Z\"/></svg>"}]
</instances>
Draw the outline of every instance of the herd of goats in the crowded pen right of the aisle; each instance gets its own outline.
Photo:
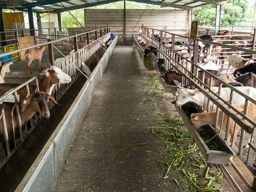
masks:
<instances>
[{"instance_id":1,"label":"herd of goats in the crowded pen right of the aisle","mask_svg":"<svg viewBox=\"0 0 256 192\"><path fill-rule=\"evenodd\" d=\"M225 31L222 35L229 35L230 31ZM146 32L147 36L151 36L150 33ZM151 36L152 38L152 36ZM155 39L158 38L157 35L154 37ZM226 37L222 38L213 38L211 35L202 35L199 37L202 40L214 41L218 43L222 43ZM144 49L144 57L148 56L149 54L154 54L157 56L158 51L156 47L149 45L144 38L139 36L137 38L137 42ZM234 42L234 46L245 47L247 42ZM256 63L253 60L245 59L241 56L241 52L237 53L229 53L222 51L221 49L218 50L218 46L207 44L204 42L199 42L199 50L198 50L198 62L197 65L202 67L203 69L207 70L209 73L215 75L219 79L225 81L226 83L230 84L231 86L235 87L238 91L243 92L244 94L248 95L250 98L256 98ZM166 47L171 47L171 42L165 42L164 45ZM187 59L191 59L193 61L193 53L186 51L182 51L182 46L184 44L180 44L180 42L175 42L175 51L182 55ZM215 47L213 47L215 46ZM213 48L215 51L213 51ZM208 54L205 54L203 49L207 50ZM184 48L183 48L184 50ZM235 51L235 50L234 50ZM232 75L222 73L222 69L220 65L216 65L213 62L204 62L203 57L209 58L209 56L218 56L218 57L227 57L229 59L228 69L229 67L233 67L234 73ZM191 58L192 57L192 58ZM158 70L160 67L163 67L163 59L158 59L156 62L155 60L152 63L156 66L155 68ZM186 69L191 69L191 64L189 63L180 62ZM175 64L174 64L175 65ZM184 68L182 70L184 71ZM199 69L199 68L198 68ZM235 70L234 70L235 69ZM170 84L172 80L176 80L177 82L182 83L184 77L182 74L178 73L179 71L175 72L175 69L165 69L162 72L162 76L167 84ZM204 78L204 79L203 79ZM219 84L218 78L211 78L207 73L204 73L202 70L198 70L198 79L202 80L205 85L211 87L211 90L214 93L218 93ZM223 98L225 101L229 101L231 94L231 89L229 87L225 87L222 84L222 91L220 92L220 98ZM220 114L216 113L216 105L213 105L211 102L200 90L198 90L193 85L185 85L184 87L180 88L179 94L177 99L172 102L179 107L184 107L187 109L189 107L197 106L199 109L207 109L207 104L209 103L211 106L211 110L200 112L192 112L190 115L191 125L193 125L194 129L198 130L203 125L215 125L216 118L218 118L218 127L221 131L226 132L228 117L226 114L222 116L222 111L220 110ZM234 92L233 102L232 105L238 109L238 111L243 112L245 107L245 97L241 96L240 94ZM218 117L217 117L218 115ZM248 105L248 112L247 117L252 121L256 122L256 105L254 103L249 102ZM231 118L229 124L229 141L231 145L234 146L237 134L240 134L241 127L236 125L236 122ZM254 129L255 130L255 129ZM249 147L248 143L256 141L256 131L253 132L252 138L248 139L248 141L243 145L244 147Z\"/></svg>"}]
</instances>

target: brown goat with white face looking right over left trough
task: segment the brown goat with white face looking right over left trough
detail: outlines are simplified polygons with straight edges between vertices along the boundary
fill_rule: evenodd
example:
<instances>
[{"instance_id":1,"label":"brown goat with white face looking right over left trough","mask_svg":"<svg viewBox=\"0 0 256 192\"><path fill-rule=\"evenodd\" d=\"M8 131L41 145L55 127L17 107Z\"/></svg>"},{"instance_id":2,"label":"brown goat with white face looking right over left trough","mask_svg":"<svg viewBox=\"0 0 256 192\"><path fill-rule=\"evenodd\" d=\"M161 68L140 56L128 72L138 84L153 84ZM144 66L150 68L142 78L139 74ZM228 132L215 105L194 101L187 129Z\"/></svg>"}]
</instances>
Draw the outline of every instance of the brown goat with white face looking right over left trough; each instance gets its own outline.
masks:
<instances>
[{"instance_id":1,"label":"brown goat with white face looking right over left trough","mask_svg":"<svg viewBox=\"0 0 256 192\"><path fill-rule=\"evenodd\" d=\"M48 63L48 67L50 67L49 63ZM59 69L58 67L53 67L52 69L43 71L43 74L44 74L43 79L39 83L39 89L40 91L43 91L49 95L52 94L52 89L54 85L56 85L57 83L65 84L65 83L71 82L71 77L65 74L64 72L62 72L61 69ZM9 90L14 89L19 85L20 84L14 84L14 83L0 84L0 96L6 94ZM29 85L29 92L36 92L36 91L37 91L36 85ZM18 102L21 102L21 100L25 99L27 97L26 86L18 89L17 94L18 94ZM13 95L10 95L7 98L4 98L4 100L2 101L14 103L15 99Z\"/></svg>"}]
</instances>

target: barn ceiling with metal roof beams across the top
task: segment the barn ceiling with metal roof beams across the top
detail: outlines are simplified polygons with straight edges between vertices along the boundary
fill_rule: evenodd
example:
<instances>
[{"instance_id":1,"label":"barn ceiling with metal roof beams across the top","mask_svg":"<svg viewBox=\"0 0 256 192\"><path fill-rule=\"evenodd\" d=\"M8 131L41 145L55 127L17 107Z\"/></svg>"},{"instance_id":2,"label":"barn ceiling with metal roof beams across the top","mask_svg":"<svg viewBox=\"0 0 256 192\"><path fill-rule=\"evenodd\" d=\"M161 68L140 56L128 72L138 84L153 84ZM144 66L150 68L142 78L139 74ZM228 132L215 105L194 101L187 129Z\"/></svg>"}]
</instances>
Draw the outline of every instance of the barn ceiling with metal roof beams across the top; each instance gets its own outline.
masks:
<instances>
[{"instance_id":1,"label":"barn ceiling with metal roof beams across the top","mask_svg":"<svg viewBox=\"0 0 256 192\"><path fill-rule=\"evenodd\" d=\"M70 11L74 9L83 9L86 7L117 2L120 0L1 0L0 8L2 9L18 9L27 11L32 8L34 12L51 12L58 13ZM206 4L224 4L224 0L132 0L133 2L141 2L148 4L161 5L162 7L175 7L180 9L195 9L196 7ZM40 9L43 8L43 9Z\"/></svg>"}]
</instances>

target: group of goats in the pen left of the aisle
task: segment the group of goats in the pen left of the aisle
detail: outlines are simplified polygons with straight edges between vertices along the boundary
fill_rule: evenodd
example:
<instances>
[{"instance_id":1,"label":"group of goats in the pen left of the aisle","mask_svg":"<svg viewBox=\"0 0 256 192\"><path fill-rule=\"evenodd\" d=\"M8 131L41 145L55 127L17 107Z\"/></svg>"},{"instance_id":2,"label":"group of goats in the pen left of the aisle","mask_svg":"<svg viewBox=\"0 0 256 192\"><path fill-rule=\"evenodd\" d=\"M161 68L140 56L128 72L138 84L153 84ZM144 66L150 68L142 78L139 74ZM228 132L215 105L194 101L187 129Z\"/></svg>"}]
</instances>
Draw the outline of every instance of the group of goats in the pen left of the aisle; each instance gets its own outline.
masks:
<instances>
[{"instance_id":1,"label":"group of goats in the pen left of the aisle","mask_svg":"<svg viewBox=\"0 0 256 192\"><path fill-rule=\"evenodd\" d=\"M102 47L109 46L111 41L108 41L107 45L104 41L99 41ZM87 45L87 42L78 42L78 49L82 49ZM41 59L43 56L43 51L45 50L45 46L41 46L40 48L28 49L25 52L27 63L27 72L30 69L31 73L31 62L33 60L38 60L39 62L39 71L43 69L41 65ZM42 71L43 78L39 82L39 92L36 85L29 84L29 92L31 94L27 94L27 87L24 86L17 91L17 97L20 108L20 119L22 124L22 129L24 129L25 124L29 119L38 112L43 118L49 118L49 100L52 100L56 105L58 103L52 97L52 91L56 84L65 84L70 83L72 81L71 77L64 72L64 69L67 67L65 65L70 65L72 63L72 58L70 55L74 54L75 51L72 50L70 54L63 58L57 58L54 63L59 63L57 66L52 67L51 63L47 63L47 70ZM80 56L78 56L80 57ZM97 63L101 59L98 54L93 54L94 60L96 60L93 66L88 67L81 61L82 71L83 73L89 77L92 73L91 71L96 67ZM78 58L79 59L79 58ZM20 84L13 83L4 83L4 74L10 73L10 65L12 62L1 63L0 66L0 96L3 96L11 89L19 86ZM63 71L61 70L63 69ZM7 96L2 100L0 104L0 111L2 114L2 109L4 109L5 121L7 127L8 137L4 134L4 125L1 121L0 123L0 141L2 142L2 146L4 151L7 154L7 147L10 146L10 150L12 150L16 146L15 139L20 137L20 125L18 121L18 113L16 110L13 110L15 105L15 97L14 94ZM12 114L13 113L13 114ZM0 119L3 119L3 116L0 116Z\"/></svg>"}]
</instances>

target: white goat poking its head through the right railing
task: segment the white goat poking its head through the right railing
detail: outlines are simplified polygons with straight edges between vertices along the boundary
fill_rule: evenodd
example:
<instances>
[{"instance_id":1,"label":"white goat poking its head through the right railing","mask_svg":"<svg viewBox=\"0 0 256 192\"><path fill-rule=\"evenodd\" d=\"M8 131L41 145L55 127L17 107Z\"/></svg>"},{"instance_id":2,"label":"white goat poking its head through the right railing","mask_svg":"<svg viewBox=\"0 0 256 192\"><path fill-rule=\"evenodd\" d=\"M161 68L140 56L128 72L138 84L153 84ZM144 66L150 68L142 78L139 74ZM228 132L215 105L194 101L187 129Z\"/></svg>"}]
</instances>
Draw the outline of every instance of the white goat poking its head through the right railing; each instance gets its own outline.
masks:
<instances>
[{"instance_id":1,"label":"white goat poking its head through the right railing","mask_svg":"<svg viewBox=\"0 0 256 192\"><path fill-rule=\"evenodd\" d=\"M234 89L237 89L240 92L243 92L247 96L251 98L256 98L256 89L253 87L234 87ZM211 91L214 93L218 93L219 87L211 87ZM222 87L220 92L220 98L222 98L225 101L229 101L230 98L231 89L228 87ZM201 107L204 107L204 109L207 109L207 104L210 102L210 106L213 108L213 110L216 110L216 105L213 105L212 101L208 101L208 98L199 90L192 90L192 89L180 89L180 94L177 97L176 105L180 106L187 102L193 102L198 104ZM233 92L233 103L234 105L243 105L245 103L245 98L238 94L237 92Z\"/></svg>"}]
</instances>

